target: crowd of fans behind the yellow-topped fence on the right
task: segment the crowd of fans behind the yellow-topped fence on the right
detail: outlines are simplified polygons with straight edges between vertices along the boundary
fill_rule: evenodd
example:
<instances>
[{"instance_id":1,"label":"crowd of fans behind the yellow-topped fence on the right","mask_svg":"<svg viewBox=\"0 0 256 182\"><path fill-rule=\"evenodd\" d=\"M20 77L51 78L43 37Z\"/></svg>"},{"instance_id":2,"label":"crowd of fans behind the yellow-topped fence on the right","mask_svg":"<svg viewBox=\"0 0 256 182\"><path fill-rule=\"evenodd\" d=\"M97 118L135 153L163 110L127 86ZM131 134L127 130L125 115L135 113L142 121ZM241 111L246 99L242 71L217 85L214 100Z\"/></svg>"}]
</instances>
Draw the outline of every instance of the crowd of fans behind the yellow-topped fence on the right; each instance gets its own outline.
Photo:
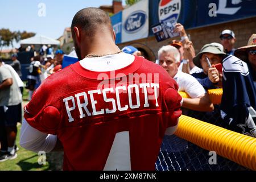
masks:
<instances>
[{"instance_id":1,"label":"crowd of fans behind the yellow-topped fence on the right","mask_svg":"<svg viewBox=\"0 0 256 182\"><path fill-rule=\"evenodd\" d=\"M235 109L235 107L240 107L241 105L244 105L242 107L245 107L245 109L238 111L244 113L248 112L248 109L246 109L246 107L254 107L254 97L256 97L255 91L253 91L256 89L256 34L251 35L247 46L236 49L234 47L236 43L236 35L234 34L234 32L232 30L223 30L222 32L220 32L220 43L207 43L200 49L200 52L196 54L193 43L185 32L183 25L177 23L176 27L174 28L174 32L179 33L180 40L172 40L168 43L168 45L159 48L158 59L155 61L155 63L161 65L164 69L166 69L170 77L174 78L179 85L179 91L186 92L190 97L183 98L183 114L188 114L188 110L207 112L204 113L203 116L197 118L205 119L216 118L216 113L218 113L218 119L216 120L224 119L226 113L224 113L225 109L221 110L221 107L226 105L226 103L221 102L222 106L213 106L213 103L212 101L210 101L208 95L209 89L223 88L224 81L226 82L226 89L224 90L224 93L232 92L232 95L234 97L232 99L234 100L234 102L232 102L233 105L229 109L232 110L232 108ZM123 48L123 51L126 51L127 49L134 50L132 52L127 52L134 54L135 48L131 46L125 47ZM225 68L225 73L228 74L228 72L237 72L241 73L241 75L243 76L233 76L232 81L226 81L225 75L222 72L222 64L227 59L229 59L229 62L230 60L235 61L234 63L229 63L232 65L228 65L229 68ZM241 67L237 68L238 70L235 70L235 64L241 65ZM247 67L248 71L246 71ZM242 73L243 70L246 73ZM245 79L245 77L248 77L249 80L247 80L247 78ZM227 84L227 82L232 82L232 84ZM247 95L246 91L242 90L240 86L245 90L250 90L250 95ZM253 87L253 90L251 90L251 86ZM245 100L243 100L243 98L245 98ZM225 100L224 102L230 101ZM251 112L255 112L255 110L253 109L253 111ZM206 115L207 117L205 117ZM242 124L246 122L244 120L247 117L242 119L238 116L238 114L233 114L232 116L234 116L234 119L237 119L236 122L233 122L233 125L235 125L234 127L239 126L239 123L237 122L241 122ZM238 118L240 118L240 121L238 121ZM252 120L251 123L254 123L254 121ZM229 122L228 124L226 124L226 127L239 133L247 134L251 137L256 137L256 134L253 132L244 132L245 130L243 130L242 127L242 130L234 129L234 127L231 127L231 124ZM251 131L253 131L256 127L254 127L254 124L252 124L250 128L252 129Z\"/></svg>"}]
</instances>

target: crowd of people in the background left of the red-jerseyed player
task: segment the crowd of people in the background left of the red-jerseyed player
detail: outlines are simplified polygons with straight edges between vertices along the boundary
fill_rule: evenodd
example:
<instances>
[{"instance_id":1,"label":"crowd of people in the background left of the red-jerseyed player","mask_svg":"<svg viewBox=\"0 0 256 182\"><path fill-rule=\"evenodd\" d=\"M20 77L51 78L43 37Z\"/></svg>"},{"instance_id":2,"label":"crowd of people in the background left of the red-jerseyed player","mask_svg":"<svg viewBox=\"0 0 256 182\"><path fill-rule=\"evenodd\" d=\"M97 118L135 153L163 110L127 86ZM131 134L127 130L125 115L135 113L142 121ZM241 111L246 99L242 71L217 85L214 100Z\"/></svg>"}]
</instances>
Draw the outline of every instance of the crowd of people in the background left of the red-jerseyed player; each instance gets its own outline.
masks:
<instances>
[{"instance_id":1,"label":"crowd of people in the background left of the red-jerseyed player","mask_svg":"<svg viewBox=\"0 0 256 182\"><path fill-rule=\"evenodd\" d=\"M32 51L33 46L19 48L19 52ZM23 88L28 89L31 100L33 92L50 75L59 71L62 67L64 52L57 49L55 54L50 45L43 46L35 57L31 58L27 68L27 82L21 80L22 71L18 55L11 55L11 64L5 64L0 58L0 162L17 157L19 148L15 144L17 134L17 122L22 119L22 94Z\"/></svg>"}]
</instances>

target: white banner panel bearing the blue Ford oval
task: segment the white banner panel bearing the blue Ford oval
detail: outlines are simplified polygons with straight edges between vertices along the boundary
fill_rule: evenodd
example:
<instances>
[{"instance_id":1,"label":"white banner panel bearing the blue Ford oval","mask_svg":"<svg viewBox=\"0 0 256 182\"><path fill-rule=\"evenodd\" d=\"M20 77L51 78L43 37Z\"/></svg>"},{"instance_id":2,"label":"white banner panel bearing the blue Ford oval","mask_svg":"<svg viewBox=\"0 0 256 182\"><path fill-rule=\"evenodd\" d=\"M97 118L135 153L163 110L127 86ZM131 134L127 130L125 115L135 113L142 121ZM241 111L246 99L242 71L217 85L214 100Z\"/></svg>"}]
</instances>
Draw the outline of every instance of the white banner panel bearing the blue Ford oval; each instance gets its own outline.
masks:
<instances>
[{"instance_id":1,"label":"white banner panel bearing the blue Ford oval","mask_svg":"<svg viewBox=\"0 0 256 182\"><path fill-rule=\"evenodd\" d=\"M142 0L123 10L122 42L148 36L148 0Z\"/></svg>"}]
</instances>

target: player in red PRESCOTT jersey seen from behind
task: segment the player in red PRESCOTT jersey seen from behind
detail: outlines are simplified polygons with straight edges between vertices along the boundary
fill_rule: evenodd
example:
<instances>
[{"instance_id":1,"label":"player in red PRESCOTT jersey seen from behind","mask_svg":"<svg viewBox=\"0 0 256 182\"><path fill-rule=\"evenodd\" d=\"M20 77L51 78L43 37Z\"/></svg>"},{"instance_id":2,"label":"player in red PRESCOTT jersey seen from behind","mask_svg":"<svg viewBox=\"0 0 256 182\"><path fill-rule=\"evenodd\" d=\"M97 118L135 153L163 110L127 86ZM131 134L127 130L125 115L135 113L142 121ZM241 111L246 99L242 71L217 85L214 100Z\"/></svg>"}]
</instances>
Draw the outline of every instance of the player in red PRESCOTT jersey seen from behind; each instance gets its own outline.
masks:
<instances>
[{"instance_id":1,"label":"player in red PRESCOTT jersey seen from behind","mask_svg":"<svg viewBox=\"0 0 256 182\"><path fill-rule=\"evenodd\" d=\"M64 170L154 170L164 134L174 133L181 115L176 82L159 65L121 52L104 11L80 10L71 28L80 61L36 90L20 145L62 147Z\"/></svg>"}]
</instances>

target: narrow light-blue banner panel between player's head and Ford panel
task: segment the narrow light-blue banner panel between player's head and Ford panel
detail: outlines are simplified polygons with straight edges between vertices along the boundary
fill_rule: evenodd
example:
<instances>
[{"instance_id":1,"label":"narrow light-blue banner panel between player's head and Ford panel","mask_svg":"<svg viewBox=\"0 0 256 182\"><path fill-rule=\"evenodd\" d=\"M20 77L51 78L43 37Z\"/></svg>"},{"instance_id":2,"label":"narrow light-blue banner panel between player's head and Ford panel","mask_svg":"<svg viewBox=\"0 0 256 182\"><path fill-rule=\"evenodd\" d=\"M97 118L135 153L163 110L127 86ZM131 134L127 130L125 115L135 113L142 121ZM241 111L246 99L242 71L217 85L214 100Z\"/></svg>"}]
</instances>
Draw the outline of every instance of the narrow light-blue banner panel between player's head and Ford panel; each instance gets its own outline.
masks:
<instances>
[{"instance_id":1,"label":"narrow light-blue banner panel between player's head and Ford panel","mask_svg":"<svg viewBox=\"0 0 256 182\"><path fill-rule=\"evenodd\" d=\"M119 44L122 42L122 11L111 16L111 22L115 31L116 40L115 43Z\"/></svg>"}]
</instances>

